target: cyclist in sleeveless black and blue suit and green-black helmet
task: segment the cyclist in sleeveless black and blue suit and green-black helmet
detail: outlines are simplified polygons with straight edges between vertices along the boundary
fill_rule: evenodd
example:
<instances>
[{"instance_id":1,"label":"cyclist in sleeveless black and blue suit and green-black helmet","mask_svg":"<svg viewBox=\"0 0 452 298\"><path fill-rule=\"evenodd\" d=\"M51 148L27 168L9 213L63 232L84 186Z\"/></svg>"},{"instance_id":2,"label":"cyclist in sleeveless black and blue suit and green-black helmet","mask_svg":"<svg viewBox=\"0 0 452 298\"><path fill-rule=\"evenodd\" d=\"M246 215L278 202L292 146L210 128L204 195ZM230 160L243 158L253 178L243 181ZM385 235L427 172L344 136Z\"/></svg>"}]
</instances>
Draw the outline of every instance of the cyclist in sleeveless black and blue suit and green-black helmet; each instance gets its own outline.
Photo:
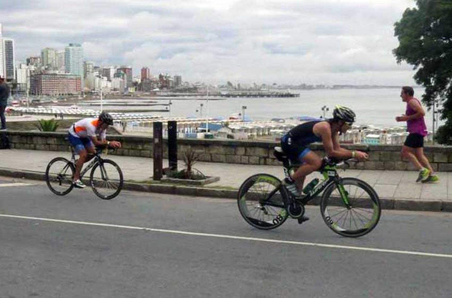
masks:
<instances>
[{"instance_id":1,"label":"cyclist in sleeveless black and blue suit and green-black helmet","mask_svg":"<svg viewBox=\"0 0 452 298\"><path fill-rule=\"evenodd\" d=\"M307 146L313 142L322 142L325 153L338 159L356 158L366 160L367 153L350 151L339 145L339 134L351 128L355 121L355 113L351 109L337 105L333 118L302 123L292 128L281 138L281 148L292 162L302 163L291 177L283 180L286 189L295 197L300 196L306 175L320 169L321 158ZM309 218L305 218L307 220Z\"/></svg>"}]
</instances>

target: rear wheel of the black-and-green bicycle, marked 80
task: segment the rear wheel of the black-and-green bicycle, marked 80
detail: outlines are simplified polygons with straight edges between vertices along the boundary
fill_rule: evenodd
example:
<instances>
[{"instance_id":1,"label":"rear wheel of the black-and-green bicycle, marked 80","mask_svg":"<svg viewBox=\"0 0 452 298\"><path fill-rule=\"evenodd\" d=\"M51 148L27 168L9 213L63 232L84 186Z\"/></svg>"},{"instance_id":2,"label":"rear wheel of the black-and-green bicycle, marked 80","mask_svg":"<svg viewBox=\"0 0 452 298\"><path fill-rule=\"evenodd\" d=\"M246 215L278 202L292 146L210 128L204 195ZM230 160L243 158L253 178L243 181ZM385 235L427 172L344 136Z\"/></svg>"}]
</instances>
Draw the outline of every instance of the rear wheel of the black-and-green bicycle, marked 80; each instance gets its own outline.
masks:
<instances>
[{"instance_id":1,"label":"rear wheel of the black-and-green bicycle, marked 80","mask_svg":"<svg viewBox=\"0 0 452 298\"><path fill-rule=\"evenodd\" d=\"M237 204L246 222L258 229L270 230L286 221L288 213L284 202L287 193L280 185L281 180L268 174L252 175L242 183ZM274 194L266 204L263 199L268 199L272 192Z\"/></svg>"}]
</instances>

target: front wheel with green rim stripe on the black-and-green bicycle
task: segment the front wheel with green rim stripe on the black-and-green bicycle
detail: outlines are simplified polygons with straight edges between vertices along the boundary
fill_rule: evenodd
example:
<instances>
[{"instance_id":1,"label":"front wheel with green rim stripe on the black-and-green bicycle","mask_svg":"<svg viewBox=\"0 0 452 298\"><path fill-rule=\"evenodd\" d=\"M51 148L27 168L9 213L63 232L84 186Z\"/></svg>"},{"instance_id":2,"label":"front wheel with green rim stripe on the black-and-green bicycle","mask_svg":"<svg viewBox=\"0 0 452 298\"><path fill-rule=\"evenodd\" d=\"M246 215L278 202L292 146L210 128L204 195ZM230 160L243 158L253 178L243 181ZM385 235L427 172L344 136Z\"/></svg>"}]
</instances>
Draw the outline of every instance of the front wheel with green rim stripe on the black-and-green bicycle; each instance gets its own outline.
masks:
<instances>
[{"instance_id":1,"label":"front wheel with green rim stripe on the black-and-green bicycle","mask_svg":"<svg viewBox=\"0 0 452 298\"><path fill-rule=\"evenodd\" d=\"M354 191L352 186L356 188ZM348 207L341 198L340 187L344 187L348 196ZM337 193L333 194L333 191ZM360 237L377 226L381 216L381 205L378 194L372 186L357 178L342 178L324 190L320 212L326 225L335 233L344 237ZM348 228L345 227L347 222Z\"/></svg>"}]
</instances>

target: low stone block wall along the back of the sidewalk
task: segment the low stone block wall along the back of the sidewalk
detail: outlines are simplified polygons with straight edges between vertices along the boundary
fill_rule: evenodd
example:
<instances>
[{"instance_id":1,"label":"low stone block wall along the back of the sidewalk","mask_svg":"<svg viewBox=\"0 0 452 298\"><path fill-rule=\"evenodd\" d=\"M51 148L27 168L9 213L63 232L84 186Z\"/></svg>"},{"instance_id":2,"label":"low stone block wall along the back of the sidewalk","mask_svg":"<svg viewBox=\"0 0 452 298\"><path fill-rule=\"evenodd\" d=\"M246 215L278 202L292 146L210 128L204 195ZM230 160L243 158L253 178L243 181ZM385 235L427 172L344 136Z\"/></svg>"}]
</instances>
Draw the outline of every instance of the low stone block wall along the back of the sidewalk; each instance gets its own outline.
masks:
<instances>
[{"instance_id":1,"label":"low stone block wall along the back of the sidewalk","mask_svg":"<svg viewBox=\"0 0 452 298\"><path fill-rule=\"evenodd\" d=\"M70 151L63 132L19 132L8 131L12 148L48 151ZM110 154L124 156L152 157L152 138L112 135L108 139L122 142L122 148L110 151ZM168 157L167 140L164 139L164 157ZM199 153L200 161L226 162L249 165L280 165L273 156L273 147L277 142L247 142L231 140L179 139L178 157L192 149ZM343 145L348 149L365 150L369 161L360 162L352 168L368 170L414 170L414 167L400 157L401 146L388 145ZM311 149L323 156L321 144L312 144ZM425 155L434 170L452 171L452 147L425 147Z\"/></svg>"}]
</instances>

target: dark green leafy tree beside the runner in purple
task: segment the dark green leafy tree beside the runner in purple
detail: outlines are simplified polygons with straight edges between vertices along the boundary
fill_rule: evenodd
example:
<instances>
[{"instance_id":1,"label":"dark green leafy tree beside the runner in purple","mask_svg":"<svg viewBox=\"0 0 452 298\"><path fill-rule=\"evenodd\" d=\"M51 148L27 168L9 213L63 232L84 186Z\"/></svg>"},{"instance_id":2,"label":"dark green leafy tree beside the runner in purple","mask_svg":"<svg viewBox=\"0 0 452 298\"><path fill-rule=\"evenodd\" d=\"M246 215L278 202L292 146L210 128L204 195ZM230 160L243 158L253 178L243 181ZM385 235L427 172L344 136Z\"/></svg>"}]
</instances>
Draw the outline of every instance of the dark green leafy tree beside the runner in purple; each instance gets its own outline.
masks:
<instances>
[{"instance_id":1,"label":"dark green leafy tree beside the runner in purple","mask_svg":"<svg viewBox=\"0 0 452 298\"><path fill-rule=\"evenodd\" d=\"M394 24L399 46L397 62L406 61L417 70L414 80L425 87L422 101L429 108L442 104L442 120L436 140L452 145L452 1L416 0L417 8L405 10Z\"/></svg>"}]
</instances>

